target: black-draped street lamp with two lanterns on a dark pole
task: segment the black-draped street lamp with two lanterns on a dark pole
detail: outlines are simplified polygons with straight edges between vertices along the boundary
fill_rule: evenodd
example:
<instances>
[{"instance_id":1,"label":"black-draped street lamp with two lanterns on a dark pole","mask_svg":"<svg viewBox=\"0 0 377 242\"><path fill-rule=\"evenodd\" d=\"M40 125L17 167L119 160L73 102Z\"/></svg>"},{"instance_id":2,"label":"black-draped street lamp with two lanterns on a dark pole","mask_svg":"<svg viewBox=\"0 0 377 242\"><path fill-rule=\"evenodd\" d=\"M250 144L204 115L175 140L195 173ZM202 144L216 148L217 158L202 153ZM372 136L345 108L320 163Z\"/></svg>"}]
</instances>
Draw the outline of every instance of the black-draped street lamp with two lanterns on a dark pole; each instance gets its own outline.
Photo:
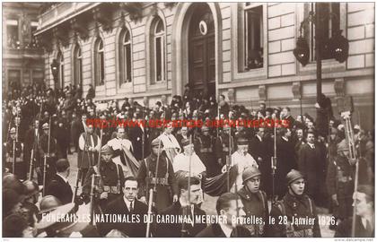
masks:
<instances>
[{"instance_id":1,"label":"black-draped street lamp with two lanterns on a dark pole","mask_svg":"<svg viewBox=\"0 0 377 242\"><path fill-rule=\"evenodd\" d=\"M322 22L329 18L337 18L334 13L329 13L327 16L320 14L320 4L315 4L315 13L312 11L309 16L305 18L300 25L300 36L297 39L296 48L294 48L294 56L302 66L309 63L310 50L309 45L306 42L302 34L303 25L309 22L313 22L315 25L315 60L317 63L317 102L320 101L320 94L322 93L322 59L321 52L327 51L331 57L334 57L339 63L346 61L348 57L348 39L341 35L342 30L336 30L333 32L331 39L325 40L322 36L323 30ZM338 21L338 19L337 19Z\"/></svg>"}]
</instances>

